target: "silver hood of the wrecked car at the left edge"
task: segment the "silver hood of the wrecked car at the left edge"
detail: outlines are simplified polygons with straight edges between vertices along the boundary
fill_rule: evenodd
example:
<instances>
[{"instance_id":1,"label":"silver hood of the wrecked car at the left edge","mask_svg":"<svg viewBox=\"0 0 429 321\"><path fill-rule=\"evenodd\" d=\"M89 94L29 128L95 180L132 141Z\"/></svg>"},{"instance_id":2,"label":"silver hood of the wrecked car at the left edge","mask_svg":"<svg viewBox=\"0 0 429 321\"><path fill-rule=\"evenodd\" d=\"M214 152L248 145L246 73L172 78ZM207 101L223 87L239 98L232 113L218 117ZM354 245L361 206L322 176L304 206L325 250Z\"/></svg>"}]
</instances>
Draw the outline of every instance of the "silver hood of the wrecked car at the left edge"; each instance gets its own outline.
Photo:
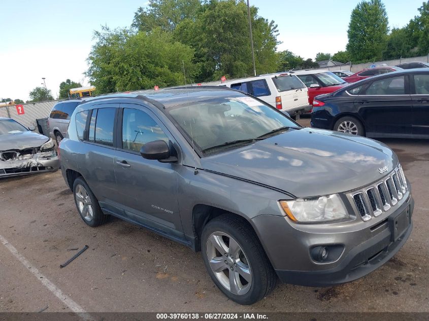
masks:
<instances>
[{"instance_id":1,"label":"silver hood of the wrecked car at the left edge","mask_svg":"<svg viewBox=\"0 0 429 321\"><path fill-rule=\"evenodd\" d=\"M40 147L48 140L48 137L32 131L0 135L0 151Z\"/></svg>"}]
</instances>

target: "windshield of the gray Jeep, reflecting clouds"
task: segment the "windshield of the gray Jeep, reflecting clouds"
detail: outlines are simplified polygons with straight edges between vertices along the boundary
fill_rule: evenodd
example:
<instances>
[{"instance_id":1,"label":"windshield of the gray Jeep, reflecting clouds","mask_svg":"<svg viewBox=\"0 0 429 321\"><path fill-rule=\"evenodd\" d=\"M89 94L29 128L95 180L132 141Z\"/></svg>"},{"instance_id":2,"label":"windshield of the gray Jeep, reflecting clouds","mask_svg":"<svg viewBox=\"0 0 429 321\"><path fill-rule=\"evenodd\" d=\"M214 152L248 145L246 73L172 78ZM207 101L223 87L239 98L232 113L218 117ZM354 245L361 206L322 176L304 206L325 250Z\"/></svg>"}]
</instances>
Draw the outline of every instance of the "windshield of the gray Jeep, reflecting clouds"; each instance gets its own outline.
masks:
<instances>
[{"instance_id":1,"label":"windshield of the gray Jeep, reflecting clouds","mask_svg":"<svg viewBox=\"0 0 429 321\"><path fill-rule=\"evenodd\" d=\"M220 97L166 109L203 153L268 138L280 128L301 128L271 106L248 96ZM278 131L276 131L278 130ZM262 137L263 136L263 137ZM245 140L245 141L243 141Z\"/></svg>"}]
</instances>

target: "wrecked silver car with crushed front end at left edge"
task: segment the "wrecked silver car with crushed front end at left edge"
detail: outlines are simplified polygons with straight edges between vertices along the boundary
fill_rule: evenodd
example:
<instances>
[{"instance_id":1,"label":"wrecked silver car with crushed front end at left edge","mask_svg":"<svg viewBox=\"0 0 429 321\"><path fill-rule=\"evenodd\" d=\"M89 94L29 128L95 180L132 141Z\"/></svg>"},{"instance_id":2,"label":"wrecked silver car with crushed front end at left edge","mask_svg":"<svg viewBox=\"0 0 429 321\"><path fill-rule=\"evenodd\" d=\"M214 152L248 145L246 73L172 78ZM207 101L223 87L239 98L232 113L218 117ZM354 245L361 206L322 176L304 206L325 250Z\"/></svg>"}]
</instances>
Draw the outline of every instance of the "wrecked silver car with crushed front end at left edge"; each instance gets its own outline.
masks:
<instances>
[{"instance_id":1,"label":"wrecked silver car with crushed front end at left edge","mask_svg":"<svg viewBox=\"0 0 429 321\"><path fill-rule=\"evenodd\" d=\"M32 130L0 117L0 177L58 170L53 140Z\"/></svg>"}]
</instances>

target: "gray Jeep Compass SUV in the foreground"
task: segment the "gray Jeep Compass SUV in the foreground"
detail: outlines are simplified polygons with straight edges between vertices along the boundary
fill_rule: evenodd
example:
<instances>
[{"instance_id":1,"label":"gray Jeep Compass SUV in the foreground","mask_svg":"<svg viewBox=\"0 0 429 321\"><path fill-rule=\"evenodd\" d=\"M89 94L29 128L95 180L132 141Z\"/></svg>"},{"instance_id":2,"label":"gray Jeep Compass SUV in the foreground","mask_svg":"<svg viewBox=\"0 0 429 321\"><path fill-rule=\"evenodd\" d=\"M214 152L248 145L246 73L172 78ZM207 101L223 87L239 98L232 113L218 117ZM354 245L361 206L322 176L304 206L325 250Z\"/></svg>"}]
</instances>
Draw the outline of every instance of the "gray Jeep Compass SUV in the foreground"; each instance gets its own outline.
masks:
<instances>
[{"instance_id":1,"label":"gray Jeep Compass SUV in the foreground","mask_svg":"<svg viewBox=\"0 0 429 321\"><path fill-rule=\"evenodd\" d=\"M91 99L59 150L87 225L112 215L201 251L240 304L268 295L277 277L306 286L362 277L412 229L410 184L387 146L303 128L232 89Z\"/></svg>"}]
</instances>

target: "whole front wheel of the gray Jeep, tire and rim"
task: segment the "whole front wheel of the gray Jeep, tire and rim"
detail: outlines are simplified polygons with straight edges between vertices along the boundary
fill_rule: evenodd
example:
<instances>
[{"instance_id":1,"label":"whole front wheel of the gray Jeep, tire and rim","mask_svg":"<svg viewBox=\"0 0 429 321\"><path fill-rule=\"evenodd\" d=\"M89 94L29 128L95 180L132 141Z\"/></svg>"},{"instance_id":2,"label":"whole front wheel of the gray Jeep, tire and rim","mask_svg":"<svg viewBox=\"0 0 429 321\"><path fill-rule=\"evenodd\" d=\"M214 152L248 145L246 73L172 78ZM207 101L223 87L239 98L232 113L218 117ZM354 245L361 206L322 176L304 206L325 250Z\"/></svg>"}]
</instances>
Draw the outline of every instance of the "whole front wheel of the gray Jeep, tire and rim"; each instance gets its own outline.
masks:
<instances>
[{"instance_id":1,"label":"whole front wheel of the gray Jeep, tire and rim","mask_svg":"<svg viewBox=\"0 0 429 321\"><path fill-rule=\"evenodd\" d=\"M276 286L277 276L247 222L229 214L204 227L203 259L212 280L231 300L253 304Z\"/></svg>"}]
</instances>

